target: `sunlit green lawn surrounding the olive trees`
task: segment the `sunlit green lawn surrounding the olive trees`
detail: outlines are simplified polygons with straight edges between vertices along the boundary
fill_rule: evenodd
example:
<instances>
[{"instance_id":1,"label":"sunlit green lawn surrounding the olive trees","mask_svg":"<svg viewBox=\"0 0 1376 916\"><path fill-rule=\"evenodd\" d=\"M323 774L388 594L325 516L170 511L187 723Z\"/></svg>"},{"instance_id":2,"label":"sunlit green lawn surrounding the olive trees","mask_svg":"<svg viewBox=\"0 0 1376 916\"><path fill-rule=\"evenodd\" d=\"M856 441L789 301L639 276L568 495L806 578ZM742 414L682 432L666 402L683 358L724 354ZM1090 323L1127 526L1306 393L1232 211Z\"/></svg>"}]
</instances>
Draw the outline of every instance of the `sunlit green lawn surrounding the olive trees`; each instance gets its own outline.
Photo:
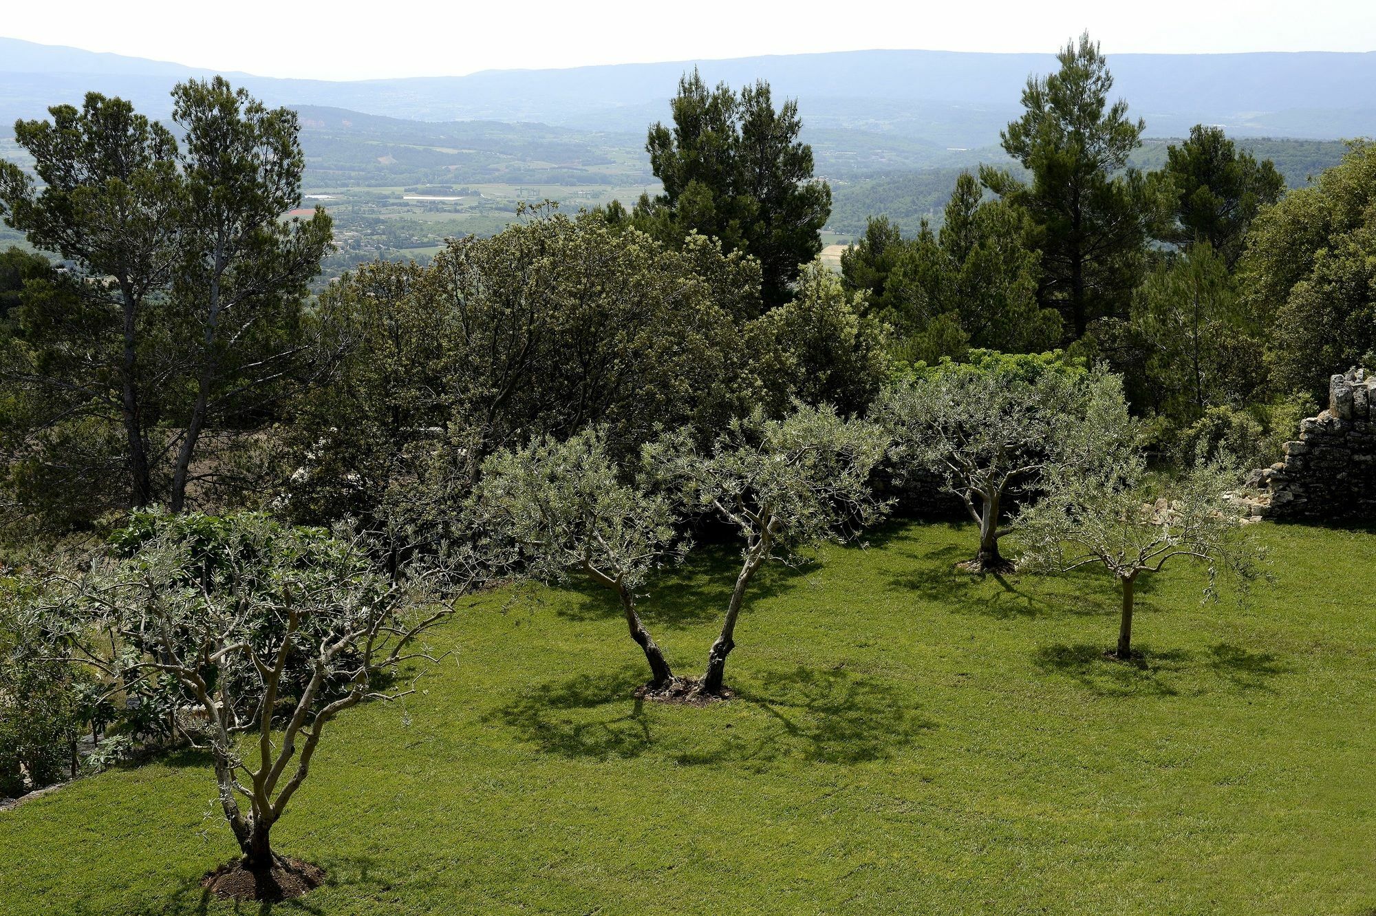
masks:
<instances>
[{"instance_id":1,"label":"sunlit green lawn surrounding the olive trees","mask_svg":"<svg viewBox=\"0 0 1376 916\"><path fill-rule=\"evenodd\" d=\"M772 569L709 708L630 699L607 596L493 596L322 745L274 836L327 886L204 899L234 850L187 754L0 814L0 912L1376 912L1376 535L1265 527L1245 607L1148 580L1127 666L1106 578L952 575L971 534ZM732 563L644 604L685 673Z\"/></svg>"}]
</instances>

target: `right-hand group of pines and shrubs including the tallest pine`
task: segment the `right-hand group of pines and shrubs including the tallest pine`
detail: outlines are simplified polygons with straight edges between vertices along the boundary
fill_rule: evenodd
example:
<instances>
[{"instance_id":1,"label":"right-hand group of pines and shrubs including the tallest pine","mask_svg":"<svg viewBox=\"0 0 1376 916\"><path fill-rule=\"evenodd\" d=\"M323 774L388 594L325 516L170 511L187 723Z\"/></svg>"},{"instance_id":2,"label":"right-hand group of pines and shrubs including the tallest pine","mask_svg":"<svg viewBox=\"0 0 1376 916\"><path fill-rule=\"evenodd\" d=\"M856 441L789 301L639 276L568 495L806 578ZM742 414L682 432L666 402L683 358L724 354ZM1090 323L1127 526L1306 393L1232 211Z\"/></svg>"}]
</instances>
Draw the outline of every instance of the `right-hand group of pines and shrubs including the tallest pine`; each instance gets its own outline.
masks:
<instances>
[{"instance_id":1,"label":"right-hand group of pines and shrubs including the tallest pine","mask_svg":"<svg viewBox=\"0 0 1376 916\"><path fill-rule=\"evenodd\" d=\"M1273 461L1328 377L1376 353L1376 150L1357 143L1285 195L1271 162L1201 125L1142 173L1127 162L1145 125L1110 100L1098 45L1082 36L1060 63L1028 81L1003 133L1021 176L962 176L940 231L871 219L842 260L846 287L894 329L900 358L1066 347L1123 373L1159 457L1187 464L1222 437Z\"/></svg>"}]
</instances>

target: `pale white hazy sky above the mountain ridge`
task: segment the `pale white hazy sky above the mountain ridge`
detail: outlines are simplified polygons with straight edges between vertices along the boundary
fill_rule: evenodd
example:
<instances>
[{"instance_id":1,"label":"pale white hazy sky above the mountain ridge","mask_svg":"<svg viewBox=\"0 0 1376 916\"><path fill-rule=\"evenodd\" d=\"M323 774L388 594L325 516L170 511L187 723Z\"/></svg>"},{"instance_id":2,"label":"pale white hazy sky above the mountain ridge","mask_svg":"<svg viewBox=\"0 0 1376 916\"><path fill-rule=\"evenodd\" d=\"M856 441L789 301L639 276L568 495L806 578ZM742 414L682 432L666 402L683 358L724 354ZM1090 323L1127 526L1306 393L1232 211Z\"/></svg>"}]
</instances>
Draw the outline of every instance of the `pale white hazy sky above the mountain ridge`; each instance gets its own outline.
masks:
<instances>
[{"instance_id":1,"label":"pale white hazy sky above the mountain ridge","mask_svg":"<svg viewBox=\"0 0 1376 916\"><path fill-rule=\"evenodd\" d=\"M1376 51L1376 0L61 0L7 3L0 34L261 76L475 70L936 48L1054 51L1083 29L1130 51Z\"/></svg>"}]
</instances>

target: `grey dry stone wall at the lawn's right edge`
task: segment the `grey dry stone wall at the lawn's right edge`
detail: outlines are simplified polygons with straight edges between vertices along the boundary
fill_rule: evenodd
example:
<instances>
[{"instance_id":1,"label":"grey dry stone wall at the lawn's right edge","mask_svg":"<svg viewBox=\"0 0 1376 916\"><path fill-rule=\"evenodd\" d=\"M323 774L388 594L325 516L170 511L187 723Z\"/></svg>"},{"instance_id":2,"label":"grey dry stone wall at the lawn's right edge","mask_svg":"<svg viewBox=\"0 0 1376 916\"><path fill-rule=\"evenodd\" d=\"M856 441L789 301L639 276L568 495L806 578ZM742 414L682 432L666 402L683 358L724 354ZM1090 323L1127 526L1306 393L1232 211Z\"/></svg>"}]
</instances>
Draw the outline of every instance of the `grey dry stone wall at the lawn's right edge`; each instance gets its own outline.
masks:
<instances>
[{"instance_id":1,"label":"grey dry stone wall at the lawn's right edge","mask_svg":"<svg viewBox=\"0 0 1376 916\"><path fill-rule=\"evenodd\" d=\"M1376 375L1333 375L1328 410L1299 425L1285 459L1252 473L1252 514L1265 519L1376 519Z\"/></svg>"}]
</instances>

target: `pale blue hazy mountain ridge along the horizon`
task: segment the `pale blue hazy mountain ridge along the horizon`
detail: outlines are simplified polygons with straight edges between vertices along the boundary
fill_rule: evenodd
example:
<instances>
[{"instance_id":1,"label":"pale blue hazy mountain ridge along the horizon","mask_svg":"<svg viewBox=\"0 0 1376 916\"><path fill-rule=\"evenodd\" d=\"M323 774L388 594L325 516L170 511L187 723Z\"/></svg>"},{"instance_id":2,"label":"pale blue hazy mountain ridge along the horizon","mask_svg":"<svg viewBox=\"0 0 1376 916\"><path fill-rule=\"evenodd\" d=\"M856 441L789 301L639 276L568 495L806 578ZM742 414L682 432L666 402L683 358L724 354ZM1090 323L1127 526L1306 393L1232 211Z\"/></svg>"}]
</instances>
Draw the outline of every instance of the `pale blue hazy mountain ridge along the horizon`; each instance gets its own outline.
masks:
<instances>
[{"instance_id":1,"label":"pale blue hazy mountain ridge along the horizon","mask_svg":"<svg viewBox=\"0 0 1376 916\"><path fill-rule=\"evenodd\" d=\"M1376 135L1376 52L1110 55L1115 92L1152 136L1196 122L1240 136L1336 139ZM728 61L676 61L566 70L486 70L462 77L330 83L226 74L271 105L329 106L421 121L535 121L581 131L644 131L667 116L680 74L765 78L799 100L812 127L866 129L938 146L985 146L1018 110L1026 77L1050 54L845 51ZM209 70L0 39L0 124L41 117L87 89L169 114L172 83Z\"/></svg>"}]
</instances>

